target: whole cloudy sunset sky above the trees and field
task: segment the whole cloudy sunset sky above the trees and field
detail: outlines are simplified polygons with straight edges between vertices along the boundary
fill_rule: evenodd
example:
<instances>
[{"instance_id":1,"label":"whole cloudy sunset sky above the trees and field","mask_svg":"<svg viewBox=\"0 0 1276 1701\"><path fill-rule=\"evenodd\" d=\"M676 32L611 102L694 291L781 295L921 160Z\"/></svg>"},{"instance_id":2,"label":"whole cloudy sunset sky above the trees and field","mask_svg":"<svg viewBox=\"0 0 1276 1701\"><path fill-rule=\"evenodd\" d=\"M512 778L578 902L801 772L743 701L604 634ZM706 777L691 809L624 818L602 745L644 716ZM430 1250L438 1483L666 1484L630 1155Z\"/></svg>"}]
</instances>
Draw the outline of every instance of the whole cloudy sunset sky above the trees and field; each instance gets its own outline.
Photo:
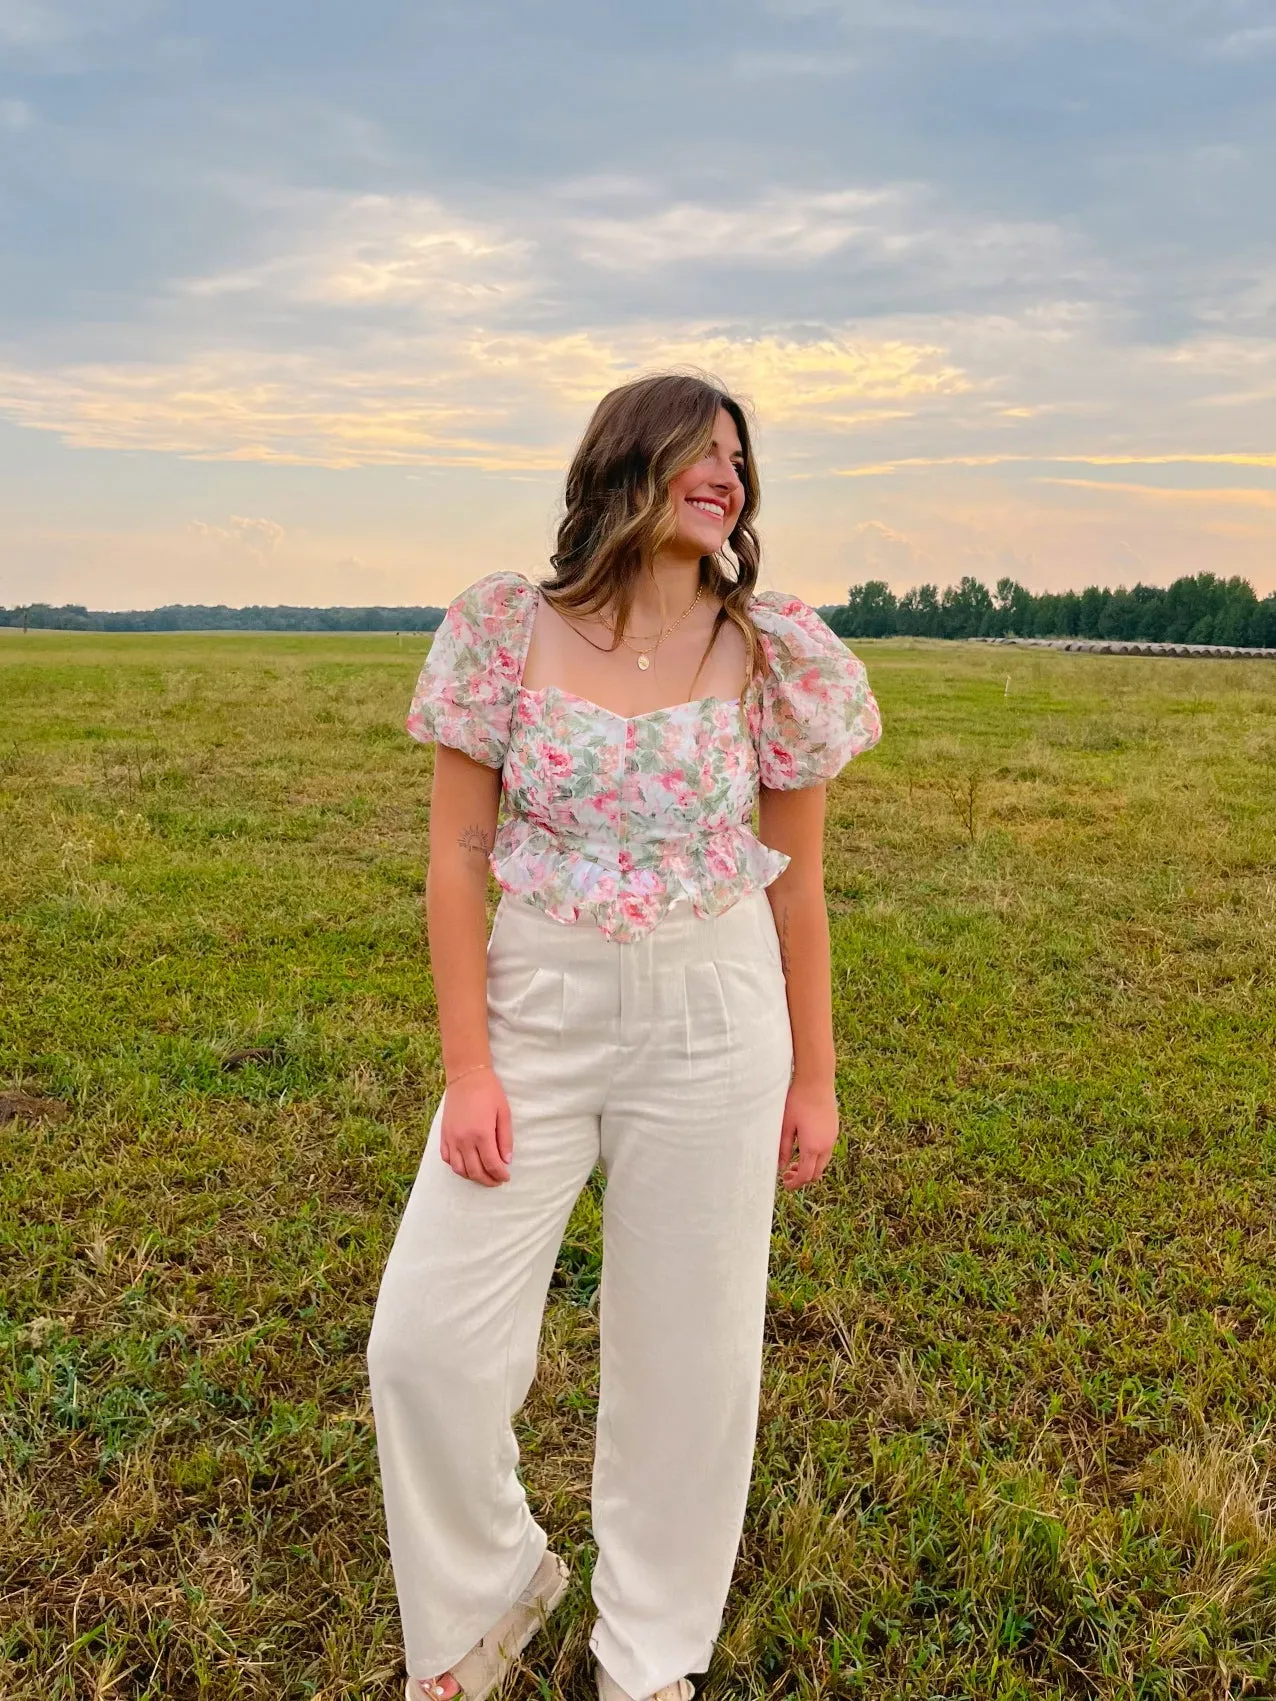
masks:
<instances>
[{"instance_id":1,"label":"whole cloudy sunset sky above the trees and field","mask_svg":"<svg viewBox=\"0 0 1276 1701\"><path fill-rule=\"evenodd\" d=\"M0 0L0 604L546 572L597 400L762 582L1276 590L1276 0Z\"/></svg>"}]
</instances>

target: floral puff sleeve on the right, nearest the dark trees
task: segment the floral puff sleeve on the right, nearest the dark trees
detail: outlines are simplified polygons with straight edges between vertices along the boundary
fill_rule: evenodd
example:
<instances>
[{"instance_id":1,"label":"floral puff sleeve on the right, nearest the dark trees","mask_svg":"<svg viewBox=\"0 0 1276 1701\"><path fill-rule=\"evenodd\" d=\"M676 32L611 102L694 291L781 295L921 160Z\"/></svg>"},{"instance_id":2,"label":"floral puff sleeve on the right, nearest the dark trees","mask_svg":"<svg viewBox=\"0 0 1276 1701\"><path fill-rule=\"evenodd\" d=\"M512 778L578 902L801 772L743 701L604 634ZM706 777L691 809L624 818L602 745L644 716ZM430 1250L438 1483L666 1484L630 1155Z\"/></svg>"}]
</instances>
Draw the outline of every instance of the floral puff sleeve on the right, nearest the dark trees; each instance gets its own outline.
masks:
<instances>
[{"instance_id":1,"label":"floral puff sleeve on the right, nearest the dark trees","mask_svg":"<svg viewBox=\"0 0 1276 1701\"><path fill-rule=\"evenodd\" d=\"M771 663L754 709L759 779L771 791L818 786L881 738L864 663L801 597L764 590L750 614Z\"/></svg>"}]
</instances>

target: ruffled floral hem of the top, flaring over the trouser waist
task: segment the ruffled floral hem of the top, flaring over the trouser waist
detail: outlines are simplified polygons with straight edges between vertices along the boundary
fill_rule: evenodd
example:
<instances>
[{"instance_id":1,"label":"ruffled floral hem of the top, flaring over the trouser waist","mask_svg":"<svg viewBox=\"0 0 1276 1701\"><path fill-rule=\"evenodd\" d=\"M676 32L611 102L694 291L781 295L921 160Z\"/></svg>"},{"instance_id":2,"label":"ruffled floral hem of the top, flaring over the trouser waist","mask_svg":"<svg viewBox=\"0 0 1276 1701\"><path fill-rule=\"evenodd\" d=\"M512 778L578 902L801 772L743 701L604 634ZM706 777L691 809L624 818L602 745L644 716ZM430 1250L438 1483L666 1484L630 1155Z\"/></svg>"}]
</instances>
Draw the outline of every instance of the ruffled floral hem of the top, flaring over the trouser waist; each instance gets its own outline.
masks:
<instances>
[{"instance_id":1,"label":"ruffled floral hem of the top, flaring over the trouser waist","mask_svg":"<svg viewBox=\"0 0 1276 1701\"><path fill-rule=\"evenodd\" d=\"M721 915L750 891L769 886L789 857L764 845L747 827L725 827L681 840L660 866L611 868L567 849L544 827L510 822L488 859L502 891L534 903L556 922L594 922L616 944L633 944L687 898L701 920Z\"/></svg>"}]
</instances>

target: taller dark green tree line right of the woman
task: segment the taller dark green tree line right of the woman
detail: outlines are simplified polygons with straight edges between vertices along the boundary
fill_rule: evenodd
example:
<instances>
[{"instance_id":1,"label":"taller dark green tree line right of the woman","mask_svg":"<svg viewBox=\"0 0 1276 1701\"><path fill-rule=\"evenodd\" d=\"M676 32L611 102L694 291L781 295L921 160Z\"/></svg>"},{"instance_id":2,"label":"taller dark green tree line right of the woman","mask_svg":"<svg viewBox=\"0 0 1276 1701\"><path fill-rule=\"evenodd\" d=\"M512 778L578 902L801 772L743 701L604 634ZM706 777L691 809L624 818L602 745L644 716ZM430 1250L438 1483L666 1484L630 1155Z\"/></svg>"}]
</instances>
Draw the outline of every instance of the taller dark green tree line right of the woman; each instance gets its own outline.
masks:
<instances>
[{"instance_id":1,"label":"taller dark green tree line right of the woman","mask_svg":"<svg viewBox=\"0 0 1276 1701\"><path fill-rule=\"evenodd\" d=\"M1014 578L988 590L961 578L895 595L881 578L851 585L820 609L842 638L1121 638L1140 643L1276 646L1276 592L1259 600L1245 578L1196 573L1172 585L1031 592Z\"/></svg>"}]
</instances>

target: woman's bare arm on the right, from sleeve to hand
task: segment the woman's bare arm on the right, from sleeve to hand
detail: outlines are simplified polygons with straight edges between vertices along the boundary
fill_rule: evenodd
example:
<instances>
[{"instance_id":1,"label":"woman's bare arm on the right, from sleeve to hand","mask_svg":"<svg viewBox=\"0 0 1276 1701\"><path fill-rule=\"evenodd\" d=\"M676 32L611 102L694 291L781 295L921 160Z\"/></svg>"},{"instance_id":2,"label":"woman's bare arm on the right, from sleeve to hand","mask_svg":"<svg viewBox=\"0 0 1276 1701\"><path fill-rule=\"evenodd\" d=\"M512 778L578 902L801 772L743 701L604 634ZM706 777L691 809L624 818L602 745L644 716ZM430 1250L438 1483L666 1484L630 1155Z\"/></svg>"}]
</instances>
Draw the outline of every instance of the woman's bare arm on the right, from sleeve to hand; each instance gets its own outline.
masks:
<instances>
[{"instance_id":1,"label":"woman's bare arm on the right, from sleeve to hand","mask_svg":"<svg viewBox=\"0 0 1276 1701\"><path fill-rule=\"evenodd\" d=\"M793 1080L779 1135L779 1170L789 1191L818 1180L837 1145L823 808L825 786L803 786L800 791L769 791L764 786L760 791L759 837L789 857L784 873L766 888L779 934L793 1027Z\"/></svg>"}]
</instances>

